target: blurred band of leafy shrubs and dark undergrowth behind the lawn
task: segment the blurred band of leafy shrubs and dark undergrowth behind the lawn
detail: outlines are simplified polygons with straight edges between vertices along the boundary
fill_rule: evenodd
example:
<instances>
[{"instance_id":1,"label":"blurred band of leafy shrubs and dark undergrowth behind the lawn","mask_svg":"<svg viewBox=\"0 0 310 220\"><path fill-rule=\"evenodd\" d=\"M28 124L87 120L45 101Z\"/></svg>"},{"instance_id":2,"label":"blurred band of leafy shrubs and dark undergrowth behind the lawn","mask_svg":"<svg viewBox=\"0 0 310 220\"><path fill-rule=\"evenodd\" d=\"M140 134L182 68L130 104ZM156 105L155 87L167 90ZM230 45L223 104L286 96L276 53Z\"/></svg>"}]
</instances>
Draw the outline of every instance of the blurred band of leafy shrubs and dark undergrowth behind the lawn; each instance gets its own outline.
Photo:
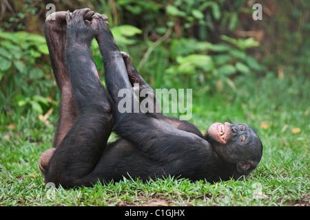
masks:
<instances>
[{"instance_id":1,"label":"blurred band of leafy shrubs and dark undergrowth behind the lawn","mask_svg":"<svg viewBox=\"0 0 310 220\"><path fill-rule=\"evenodd\" d=\"M205 96L236 91L238 76L309 77L307 1L2 0L0 121L6 124L12 108L46 113L57 100L39 37L48 3L107 14L119 47L154 88L195 88L195 96ZM254 3L262 4L262 21L252 19ZM94 57L101 66L98 51Z\"/></svg>"}]
</instances>

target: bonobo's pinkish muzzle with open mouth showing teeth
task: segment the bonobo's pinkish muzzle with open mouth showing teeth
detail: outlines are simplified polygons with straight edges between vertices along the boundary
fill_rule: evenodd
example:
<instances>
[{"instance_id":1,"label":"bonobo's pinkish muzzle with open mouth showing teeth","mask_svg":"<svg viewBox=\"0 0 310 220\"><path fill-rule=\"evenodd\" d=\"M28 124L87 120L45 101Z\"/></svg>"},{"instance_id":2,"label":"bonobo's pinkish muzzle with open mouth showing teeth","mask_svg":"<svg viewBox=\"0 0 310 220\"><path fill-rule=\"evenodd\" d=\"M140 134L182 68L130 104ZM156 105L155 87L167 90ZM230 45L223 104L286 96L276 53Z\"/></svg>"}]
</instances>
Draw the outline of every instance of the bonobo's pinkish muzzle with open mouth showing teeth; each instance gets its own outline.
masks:
<instances>
[{"instance_id":1,"label":"bonobo's pinkish muzzle with open mouth showing teeth","mask_svg":"<svg viewBox=\"0 0 310 220\"><path fill-rule=\"evenodd\" d=\"M225 122L224 124L214 123L209 126L208 133L214 140L222 144L226 144L227 140L231 137L231 124Z\"/></svg>"}]
</instances>

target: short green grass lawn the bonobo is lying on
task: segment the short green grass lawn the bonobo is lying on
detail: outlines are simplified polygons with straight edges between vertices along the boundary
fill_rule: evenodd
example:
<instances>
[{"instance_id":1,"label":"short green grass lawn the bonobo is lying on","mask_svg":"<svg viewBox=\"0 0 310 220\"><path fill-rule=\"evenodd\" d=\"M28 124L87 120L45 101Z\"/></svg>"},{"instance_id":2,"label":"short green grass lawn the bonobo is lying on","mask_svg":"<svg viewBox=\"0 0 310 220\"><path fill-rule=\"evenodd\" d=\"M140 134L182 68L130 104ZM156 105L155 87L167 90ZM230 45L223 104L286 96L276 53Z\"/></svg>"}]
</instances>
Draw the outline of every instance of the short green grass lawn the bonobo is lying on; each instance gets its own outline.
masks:
<instances>
[{"instance_id":1,"label":"short green grass lawn the bonobo is lying on","mask_svg":"<svg viewBox=\"0 0 310 220\"><path fill-rule=\"evenodd\" d=\"M188 179L123 179L93 188L48 188L37 163L52 146L56 111L50 124L34 113L10 110L0 126L0 206L309 206L310 82L239 78L238 93L206 97L193 88L192 122L201 131L212 122L247 122L264 151L248 177L210 184ZM10 126L9 126L10 125ZM299 128L299 133L292 129Z\"/></svg>"}]
</instances>

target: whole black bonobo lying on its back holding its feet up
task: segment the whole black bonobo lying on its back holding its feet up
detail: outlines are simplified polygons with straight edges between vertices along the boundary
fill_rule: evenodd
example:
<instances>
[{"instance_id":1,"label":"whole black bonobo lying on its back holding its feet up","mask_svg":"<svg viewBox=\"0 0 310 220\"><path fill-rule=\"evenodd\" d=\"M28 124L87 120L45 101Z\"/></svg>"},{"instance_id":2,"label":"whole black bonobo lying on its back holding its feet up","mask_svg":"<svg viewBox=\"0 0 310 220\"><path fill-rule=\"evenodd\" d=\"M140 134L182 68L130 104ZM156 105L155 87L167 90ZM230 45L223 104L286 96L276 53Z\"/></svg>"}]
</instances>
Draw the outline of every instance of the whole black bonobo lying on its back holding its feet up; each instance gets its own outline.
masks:
<instances>
[{"instance_id":1,"label":"whole black bonobo lying on its back holding its feet up","mask_svg":"<svg viewBox=\"0 0 310 220\"><path fill-rule=\"evenodd\" d=\"M45 23L45 38L61 92L54 148L39 161L46 182L92 186L129 176L167 175L213 182L238 179L260 162L262 142L247 124L211 124L203 135L193 124L158 111L118 111L120 89L134 94L134 83L151 88L130 56L118 50L105 15L90 9L56 12ZM106 89L90 52L94 38L105 65ZM156 102L154 94L148 98ZM132 96L132 102L141 100ZM112 131L120 138L107 142Z\"/></svg>"}]
</instances>

